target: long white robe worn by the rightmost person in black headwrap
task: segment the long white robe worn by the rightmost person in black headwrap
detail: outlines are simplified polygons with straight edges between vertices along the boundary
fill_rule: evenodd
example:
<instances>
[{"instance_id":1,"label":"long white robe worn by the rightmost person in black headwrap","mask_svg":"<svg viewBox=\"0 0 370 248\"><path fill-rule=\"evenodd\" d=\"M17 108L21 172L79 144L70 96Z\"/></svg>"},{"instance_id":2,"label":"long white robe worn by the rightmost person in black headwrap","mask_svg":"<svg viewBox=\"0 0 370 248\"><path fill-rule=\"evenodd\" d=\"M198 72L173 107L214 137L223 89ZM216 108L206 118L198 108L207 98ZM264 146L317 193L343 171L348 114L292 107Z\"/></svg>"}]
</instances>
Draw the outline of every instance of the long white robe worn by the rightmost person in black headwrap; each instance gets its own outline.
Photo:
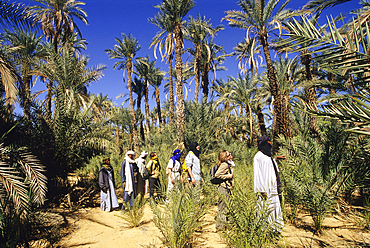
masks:
<instances>
[{"instance_id":1,"label":"long white robe worn by the rightmost person in black headwrap","mask_svg":"<svg viewBox=\"0 0 370 248\"><path fill-rule=\"evenodd\" d=\"M274 161L277 170L278 166ZM267 195L267 208L272 212L269 216L270 223L276 223L277 230L281 231L284 227L283 214L281 212L280 200L277 190L277 180L272 164L272 159L266 156L261 151L258 151L253 159L253 174L254 174L254 192L266 193Z\"/></svg>"}]
</instances>

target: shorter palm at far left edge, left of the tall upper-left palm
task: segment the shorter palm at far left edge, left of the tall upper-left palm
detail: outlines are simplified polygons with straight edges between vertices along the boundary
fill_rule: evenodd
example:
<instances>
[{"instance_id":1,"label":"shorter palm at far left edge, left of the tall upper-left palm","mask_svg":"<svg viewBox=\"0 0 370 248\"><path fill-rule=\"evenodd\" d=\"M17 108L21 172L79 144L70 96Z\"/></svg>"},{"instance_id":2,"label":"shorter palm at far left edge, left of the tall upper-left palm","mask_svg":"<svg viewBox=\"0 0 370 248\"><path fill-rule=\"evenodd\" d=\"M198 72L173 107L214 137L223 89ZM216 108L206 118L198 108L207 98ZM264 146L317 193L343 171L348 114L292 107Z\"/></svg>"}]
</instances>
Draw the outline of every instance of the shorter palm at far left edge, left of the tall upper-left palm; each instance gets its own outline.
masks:
<instances>
[{"instance_id":1,"label":"shorter palm at far left edge, left of the tall upper-left palm","mask_svg":"<svg viewBox=\"0 0 370 248\"><path fill-rule=\"evenodd\" d=\"M29 119L31 108L31 82L32 69L41 53L42 36L36 36L36 32L26 32L24 30L15 30L11 32L4 30L3 35L13 48L16 48L13 55L15 56L15 66L21 66L22 84L20 87L21 106L23 107L24 117Z\"/></svg>"}]
</instances>

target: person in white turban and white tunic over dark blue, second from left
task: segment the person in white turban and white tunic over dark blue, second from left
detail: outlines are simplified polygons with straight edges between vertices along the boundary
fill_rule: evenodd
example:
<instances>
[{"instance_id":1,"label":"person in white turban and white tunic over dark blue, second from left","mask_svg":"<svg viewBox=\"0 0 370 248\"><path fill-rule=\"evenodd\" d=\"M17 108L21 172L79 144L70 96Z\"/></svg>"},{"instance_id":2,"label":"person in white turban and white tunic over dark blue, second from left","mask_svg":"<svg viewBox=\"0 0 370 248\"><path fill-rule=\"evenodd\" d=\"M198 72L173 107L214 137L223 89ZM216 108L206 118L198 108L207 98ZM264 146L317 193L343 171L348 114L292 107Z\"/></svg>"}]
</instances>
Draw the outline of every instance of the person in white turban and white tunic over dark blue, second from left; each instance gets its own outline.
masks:
<instances>
[{"instance_id":1,"label":"person in white turban and white tunic over dark blue, second from left","mask_svg":"<svg viewBox=\"0 0 370 248\"><path fill-rule=\"evenodd\" d=\"M121 181L123 187L123 202L122 209L125 209L125 203L130 202L132 207L134 204L134 199L136 198L137 189L137 174L139 168L135 162L135 152L128 151L125 155L125 160L122 162L121 166Z\"/></svg>"}]
</instances>

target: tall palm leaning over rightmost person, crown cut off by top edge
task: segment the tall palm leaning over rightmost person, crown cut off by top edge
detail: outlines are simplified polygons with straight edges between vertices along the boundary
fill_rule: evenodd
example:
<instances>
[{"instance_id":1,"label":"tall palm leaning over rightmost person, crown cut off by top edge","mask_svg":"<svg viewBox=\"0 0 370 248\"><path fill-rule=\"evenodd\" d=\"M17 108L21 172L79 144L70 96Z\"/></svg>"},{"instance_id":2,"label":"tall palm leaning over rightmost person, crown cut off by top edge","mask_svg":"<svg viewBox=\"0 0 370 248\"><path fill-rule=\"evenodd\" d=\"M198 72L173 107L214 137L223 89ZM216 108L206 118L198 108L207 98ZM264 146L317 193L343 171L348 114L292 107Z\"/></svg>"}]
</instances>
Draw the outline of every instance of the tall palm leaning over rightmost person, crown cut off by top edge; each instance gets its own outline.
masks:
<instances>
[{"instance_id":1,"label":"tall palm leaning over rightmost person, crown cut off by top edge","mask_svg":"<svg viewBox=\"0 0 370 248\"><path fill-rule=\"evenodd\" d=\"M280 0L241 0L238 5L242 10L226 11L226 16L223 18L229 22L231 27L246 29L248 36L256 37L263 48L265 60L267 64L268 79L270 83L271 95L274 97L274 112L276 121L273 128L273 150L277 152L278 143L276 138L279 134L286 137L291 137L291 133L287 119L287 110L282 104L282 95L279 90L279 85L276 80L274 67L271 60L268 38L272 36L273 30L278 27L281 32L281 22L291 16L291 12L286 10L286 5L290 2L287 0L280 5ZM278 8L278 5L280 7Z\"/></svg>"}]
</instances>

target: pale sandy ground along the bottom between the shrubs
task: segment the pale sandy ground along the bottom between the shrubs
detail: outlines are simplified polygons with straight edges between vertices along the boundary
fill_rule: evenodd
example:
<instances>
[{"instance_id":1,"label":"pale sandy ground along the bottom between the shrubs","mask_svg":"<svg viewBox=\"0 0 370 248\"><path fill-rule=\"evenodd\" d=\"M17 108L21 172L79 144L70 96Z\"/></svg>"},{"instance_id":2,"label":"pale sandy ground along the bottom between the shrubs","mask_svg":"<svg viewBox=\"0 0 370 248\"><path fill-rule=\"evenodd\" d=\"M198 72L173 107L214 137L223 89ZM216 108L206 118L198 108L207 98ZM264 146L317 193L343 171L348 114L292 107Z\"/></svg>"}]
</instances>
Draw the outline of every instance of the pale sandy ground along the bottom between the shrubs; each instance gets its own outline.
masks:
<instances>
[{"instance_id":1,"label":"pale sandy ground along the bottom between the shrubs","mask_svg":"<svg viewBox=\"0 0 370 248\"><path fill-rule=\"evenodd\" d=\"M120 197L120 194L118 195ZM31 242L30 247L164 247L161 241L162 234L153 223L153 214L149 205L145 206L141 225L131 228L121 218L121 210L101 211L98 203L97 195L96 207L80 208L65 215L68 226L63 232L67 234L56 244L50 245L37 240ZM220 233L216 232L216 213L217 206L213 206L204 216L204 226L195 233L193 247L228 247ZM324 220L323 233L315 235L312 218L307 213L299 212L294 225L289 222L285 224L282 238L276 247L370 247L370 233L360 227L354 219L353 215L338 213L328 216Z\"/></svg>"}]
</instances>

